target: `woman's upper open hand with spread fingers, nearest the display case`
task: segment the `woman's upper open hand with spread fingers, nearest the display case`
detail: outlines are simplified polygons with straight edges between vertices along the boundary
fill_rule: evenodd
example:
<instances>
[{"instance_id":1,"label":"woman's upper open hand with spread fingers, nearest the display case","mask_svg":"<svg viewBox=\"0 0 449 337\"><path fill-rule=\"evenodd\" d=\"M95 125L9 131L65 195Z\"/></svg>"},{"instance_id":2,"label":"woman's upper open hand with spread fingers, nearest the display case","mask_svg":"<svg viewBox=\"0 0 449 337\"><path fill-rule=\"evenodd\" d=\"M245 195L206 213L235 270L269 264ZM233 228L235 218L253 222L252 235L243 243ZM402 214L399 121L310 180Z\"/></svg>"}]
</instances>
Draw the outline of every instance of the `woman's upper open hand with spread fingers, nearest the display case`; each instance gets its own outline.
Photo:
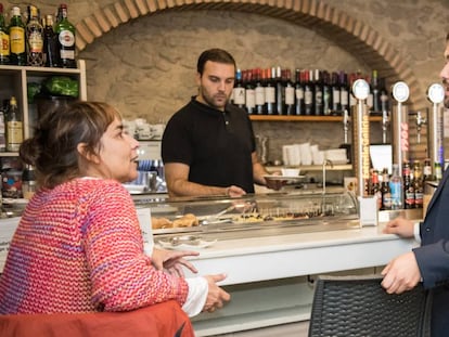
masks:
<instances>
[{"instance_id":1,"label":"woman's upper open hand with spread fingers, nearest the display case","mask_svg":"<svg viewBox=\"0 0 449 337\"><path fill-rule=\"evenodd\" d=\"M197 273L196 268L184 259L187 256L198 256L197 251L189 250L167 250L154 248L151 256L152 263L157 270L166 270L174 276L184 277L182 265L191 272Z\"/></svg>"}]
</instances>

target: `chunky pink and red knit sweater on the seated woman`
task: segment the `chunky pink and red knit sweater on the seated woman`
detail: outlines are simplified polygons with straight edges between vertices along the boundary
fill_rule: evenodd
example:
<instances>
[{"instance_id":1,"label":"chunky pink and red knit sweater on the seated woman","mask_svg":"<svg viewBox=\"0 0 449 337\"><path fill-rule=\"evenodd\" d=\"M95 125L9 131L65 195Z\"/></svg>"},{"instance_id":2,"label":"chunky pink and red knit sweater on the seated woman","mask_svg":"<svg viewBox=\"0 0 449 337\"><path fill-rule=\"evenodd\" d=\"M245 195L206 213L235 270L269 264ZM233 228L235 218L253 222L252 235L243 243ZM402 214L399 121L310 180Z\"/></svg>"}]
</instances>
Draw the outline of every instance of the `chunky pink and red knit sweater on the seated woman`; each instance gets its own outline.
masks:
<instances>
[{"instance_id":1,"label":"chunky pink and red knit sweater on the seated woman","mask_svg":"<svg viewBox=\"0 0 449 337\"><path fill-rule=\"evenodd\" d=\"M125 311L175 299L187 282L143 254L129 193L113 180L76 179L27 205L0 278L0 313Z\"/></svg>"}]
</instances>

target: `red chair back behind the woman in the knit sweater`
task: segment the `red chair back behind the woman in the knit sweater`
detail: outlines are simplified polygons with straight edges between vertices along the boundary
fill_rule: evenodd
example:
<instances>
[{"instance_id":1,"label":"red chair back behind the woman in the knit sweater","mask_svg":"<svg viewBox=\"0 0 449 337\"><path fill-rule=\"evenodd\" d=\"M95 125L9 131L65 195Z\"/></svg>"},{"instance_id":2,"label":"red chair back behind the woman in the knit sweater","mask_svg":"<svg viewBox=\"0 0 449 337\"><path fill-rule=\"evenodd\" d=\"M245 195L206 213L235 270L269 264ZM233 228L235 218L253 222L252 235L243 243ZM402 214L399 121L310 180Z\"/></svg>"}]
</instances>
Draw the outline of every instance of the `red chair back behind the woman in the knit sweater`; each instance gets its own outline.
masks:
<instances>
[{"instance_id":1,"label":"red chair back behind the woman in the knit sweater","mask_svg":"<svg viewBox=\"0 0 449 337\"><path fill-rule=\"evenodd\" d=\"M180 306L168 301L128 312L0 315L0 336L193 337L194 332Z\"/></svg>"}]
</instances>

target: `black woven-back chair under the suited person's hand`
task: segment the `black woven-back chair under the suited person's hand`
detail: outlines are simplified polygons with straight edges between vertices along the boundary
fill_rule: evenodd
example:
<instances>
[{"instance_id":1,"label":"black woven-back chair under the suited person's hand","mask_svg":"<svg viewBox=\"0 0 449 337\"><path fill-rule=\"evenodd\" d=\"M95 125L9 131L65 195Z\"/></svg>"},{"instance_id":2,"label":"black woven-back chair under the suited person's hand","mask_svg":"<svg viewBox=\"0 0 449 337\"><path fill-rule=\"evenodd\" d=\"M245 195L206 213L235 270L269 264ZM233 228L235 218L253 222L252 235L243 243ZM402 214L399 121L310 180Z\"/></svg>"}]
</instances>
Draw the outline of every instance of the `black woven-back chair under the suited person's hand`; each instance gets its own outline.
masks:
<instances>
[{"instance_id":1,"label":"black woven-back chair under the suited person's hand","mask_svg":"<svg viewBox=\"0 0 449 337\"><path fill-rule=\"evenodd\" d=\"M387 294L382 276L319 276L309 337L431 336L432 298L420 284Z\"/></svg>"}]
</instances>

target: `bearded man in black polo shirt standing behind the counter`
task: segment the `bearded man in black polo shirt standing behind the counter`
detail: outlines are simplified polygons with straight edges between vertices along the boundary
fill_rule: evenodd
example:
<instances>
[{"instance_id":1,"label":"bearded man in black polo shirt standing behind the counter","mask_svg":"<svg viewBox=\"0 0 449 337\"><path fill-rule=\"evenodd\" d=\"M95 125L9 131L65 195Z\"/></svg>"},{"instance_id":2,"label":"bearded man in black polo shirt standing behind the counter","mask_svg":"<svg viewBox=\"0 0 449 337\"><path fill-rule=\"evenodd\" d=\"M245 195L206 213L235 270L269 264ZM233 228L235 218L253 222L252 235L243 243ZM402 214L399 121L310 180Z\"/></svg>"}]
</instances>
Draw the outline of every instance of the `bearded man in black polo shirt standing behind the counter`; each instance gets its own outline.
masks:
<instances>
[{"instance_id":1,"label":"bearded man in black polo shirt standing behind the counter","mask_svg":"<svg viewBox=\"0 0 449 337\"><path fill-rule=\"evenodd\" d=\"M198 94L168 121L162 142L170 196L254 193L254 183L279 190L266 180L258 160L251 120L229 103L235 61L221 49L204 51L197 61Z\"/></svg>"}]
</instances>

